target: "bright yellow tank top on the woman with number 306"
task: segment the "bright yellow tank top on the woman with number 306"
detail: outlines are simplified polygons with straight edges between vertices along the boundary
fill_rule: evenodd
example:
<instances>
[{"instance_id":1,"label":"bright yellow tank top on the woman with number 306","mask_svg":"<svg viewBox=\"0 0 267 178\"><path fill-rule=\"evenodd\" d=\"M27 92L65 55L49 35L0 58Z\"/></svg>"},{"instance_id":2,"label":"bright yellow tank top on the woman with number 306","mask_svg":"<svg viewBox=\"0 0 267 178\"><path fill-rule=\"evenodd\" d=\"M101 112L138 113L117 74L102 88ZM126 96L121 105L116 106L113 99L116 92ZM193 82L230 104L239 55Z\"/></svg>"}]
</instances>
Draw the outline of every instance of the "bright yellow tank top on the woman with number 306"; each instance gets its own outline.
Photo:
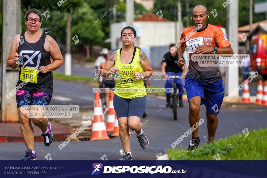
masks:
<instances>
[{"instance_id":1,"label":"bright yellow tank top on the woman with number 306","mask_svg":"<svg viewBox=\"0 0 267 178\"><path fill-rule=\"evenodd\" d=\"M134 59L130 64L121 64L120 49L117 50L117 59L114 67L119 69L120 78L116 80L116 87L114 93L124 99L132 99L137 96L146 96L146 88L143 80L137 80L134 76L134 71L143 72L143 68L139 61L139 48L136 48ZM126 89L134 90L133 92L118 92ZM138 91L137 91L138 89Z\"/></svg>"}]
</instances>

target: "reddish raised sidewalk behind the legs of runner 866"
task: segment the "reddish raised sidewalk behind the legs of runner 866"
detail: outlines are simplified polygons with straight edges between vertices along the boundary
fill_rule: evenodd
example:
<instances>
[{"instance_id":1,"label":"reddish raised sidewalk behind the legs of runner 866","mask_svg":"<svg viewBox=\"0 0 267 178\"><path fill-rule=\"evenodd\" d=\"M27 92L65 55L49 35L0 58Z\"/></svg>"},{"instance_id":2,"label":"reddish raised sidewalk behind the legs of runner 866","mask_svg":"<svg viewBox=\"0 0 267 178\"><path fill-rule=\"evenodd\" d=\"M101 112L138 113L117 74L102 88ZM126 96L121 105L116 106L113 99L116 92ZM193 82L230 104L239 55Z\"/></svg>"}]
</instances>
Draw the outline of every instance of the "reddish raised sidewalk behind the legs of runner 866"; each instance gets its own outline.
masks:
<instances>
[{"instance_id":1,"label":"reddish raised sidewalk behind the legs of runner 866","mask_svg":"<svg viewBox=\"0 0 267 178\"><path fill-rule=\"evenodd\" d=\"M50 121L49 121L50 122ZM67 126L51 122L54 141L64 141L68 135L71 134ZM20 123L0 123L0 142L24 142L21 131ZM44 138L41 135L42 131L33 126L34 141L43 142Z\"/></svg>"}]
</instances>

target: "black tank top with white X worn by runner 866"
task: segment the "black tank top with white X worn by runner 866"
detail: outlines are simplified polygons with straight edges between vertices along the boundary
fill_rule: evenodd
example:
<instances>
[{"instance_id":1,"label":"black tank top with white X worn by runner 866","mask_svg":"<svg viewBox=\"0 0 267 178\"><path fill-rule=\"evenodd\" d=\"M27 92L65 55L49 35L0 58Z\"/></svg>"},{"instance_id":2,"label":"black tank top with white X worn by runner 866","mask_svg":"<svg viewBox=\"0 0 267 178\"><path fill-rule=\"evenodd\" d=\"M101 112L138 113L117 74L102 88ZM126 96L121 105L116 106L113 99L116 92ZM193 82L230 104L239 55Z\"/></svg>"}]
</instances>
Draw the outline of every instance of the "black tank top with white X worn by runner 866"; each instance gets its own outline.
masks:
<instances>
[{"instance_id":1,"label":"black tank top with white X worn by runner 866","mask_svg":"<svg viewBox=\"0 0 267 178\"><path fill-rule=\"evenodd\" d=\"M41 66L46 66L51 63L49 52L45 51L44 45L46 40L46 33L42 33L40 39L35 43L29 43L26 41L24 33L20 35L20 42L18 53L19 55L25 55L22 61L22 65L19 65L19 81L16 86L19 89L28 90L30 92L44 92L52 96L53 92L53 75L52 72L42 73L38 72L37 82L23 82L21 79L22 67L29 71L29 69L39 69ZM23 74L23 72L22 72ZM25 77L25 74L23 74ZM25 85L19 85L24 83ZM22 87L21 87L22 86Z\"/></svg>"}]
</instances>

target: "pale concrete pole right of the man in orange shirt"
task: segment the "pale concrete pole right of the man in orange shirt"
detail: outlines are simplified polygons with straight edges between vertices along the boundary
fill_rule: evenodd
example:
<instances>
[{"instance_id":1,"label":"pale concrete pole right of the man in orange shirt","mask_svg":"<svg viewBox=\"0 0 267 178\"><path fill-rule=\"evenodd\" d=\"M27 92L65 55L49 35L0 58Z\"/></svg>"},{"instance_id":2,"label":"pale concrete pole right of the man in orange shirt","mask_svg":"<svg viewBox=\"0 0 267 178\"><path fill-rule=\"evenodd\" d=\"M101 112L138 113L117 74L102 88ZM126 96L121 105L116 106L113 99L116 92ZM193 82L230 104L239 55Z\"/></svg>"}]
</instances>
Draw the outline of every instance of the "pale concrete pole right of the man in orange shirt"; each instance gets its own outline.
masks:
<instances>
[{"instance_id":1,"label":"pale concrete pole right of the man in orange shirt","mask_svg":"<svg viewBox=\"0 0 267 178\"><path fill-rule=\"evenodd\" d=\"M238 0L232 1L227 8L228 10L228 40L232 44L234 54L238 54ZM238 88L238 67L226 67L226 95L230 95L236 88ZM238 92L233 97L238 99ZM233 100L234 101L234 100Z\"/></svg>"}]
</instances>

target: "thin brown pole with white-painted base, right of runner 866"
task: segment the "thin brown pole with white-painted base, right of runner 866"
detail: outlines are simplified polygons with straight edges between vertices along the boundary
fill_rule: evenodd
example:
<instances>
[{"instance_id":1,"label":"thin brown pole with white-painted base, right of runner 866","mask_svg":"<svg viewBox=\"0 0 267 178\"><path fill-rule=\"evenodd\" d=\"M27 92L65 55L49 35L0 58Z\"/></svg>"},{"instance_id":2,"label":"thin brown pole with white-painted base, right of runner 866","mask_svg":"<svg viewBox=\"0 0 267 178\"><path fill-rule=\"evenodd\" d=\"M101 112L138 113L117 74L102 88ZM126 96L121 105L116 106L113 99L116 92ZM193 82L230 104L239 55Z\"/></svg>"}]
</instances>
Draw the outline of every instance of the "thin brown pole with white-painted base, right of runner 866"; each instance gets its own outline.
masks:
<instances>
[{"instance_id":1,"label":"thin brown pole with white-painted base, right of runner 866","mask_svg":"<svg viewBox=\"0 0 267 178\"><path fill-rule=\"evenodd\" d=\"M67 35L66 35L66 54L65 54L65 75L71 75L71 46L70 46L70 32L71 32L71 14L67 12Z\"/></svg>"}]
</instances>

